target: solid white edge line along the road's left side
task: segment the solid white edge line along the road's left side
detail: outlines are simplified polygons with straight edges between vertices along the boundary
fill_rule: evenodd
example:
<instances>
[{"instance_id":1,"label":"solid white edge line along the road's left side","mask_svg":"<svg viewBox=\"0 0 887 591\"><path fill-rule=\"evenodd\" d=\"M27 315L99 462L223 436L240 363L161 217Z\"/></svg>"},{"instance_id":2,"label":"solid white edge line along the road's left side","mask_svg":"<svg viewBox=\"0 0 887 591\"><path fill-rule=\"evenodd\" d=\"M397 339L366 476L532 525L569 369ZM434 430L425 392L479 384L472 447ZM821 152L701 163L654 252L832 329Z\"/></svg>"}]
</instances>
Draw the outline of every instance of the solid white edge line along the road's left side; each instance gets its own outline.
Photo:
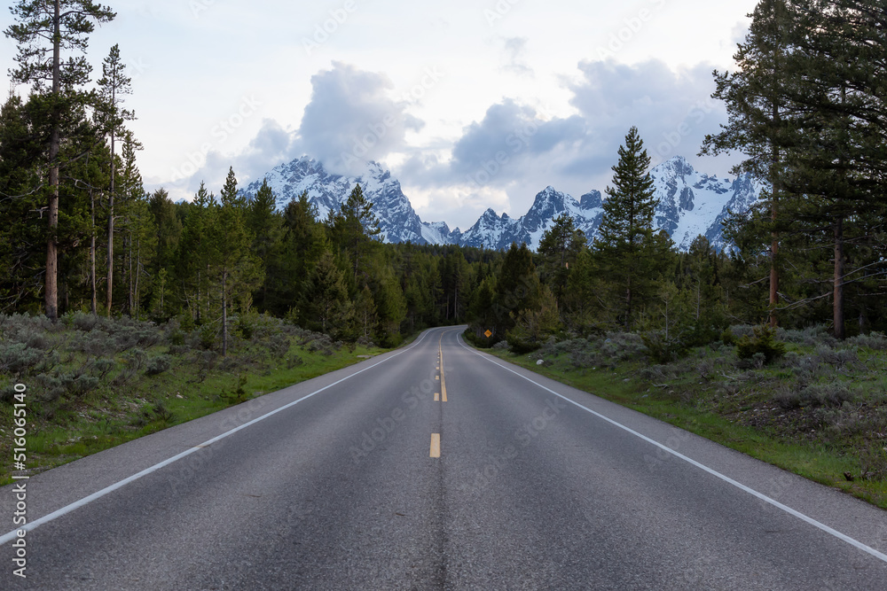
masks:
<instances>
[{"instance_id":1,"label":"solid white edge line along the road's left side","mask_svg":"<svg viewBox=\"0 0 887 591\"><path fill-rule=\"evenodd\" d=\"M312 392L310 394L302 396L302 398L300 398L299 400L294 400L292 402L285 404L284 406L282 406L280 408L275 408L274 410L271 410L270 412L264 414L263 416L259 416L257 418L254 418L252 421L249 421L247 423L244 423L244 424L241 424L237 427L234 427L231 431L224 432L221 435L217 435L216 437L214 437L212 439L208 439L198 446L190 447L190 448L186 449L184 452L182 452L181 454L173 455L172 457L170 457L166 460L163 460L161 463L155 463L150 468L145 468L145 470L137 472L136 474L133 474L132 476L130 476L128 478L123 478L121 481L116 482L113 485L106 486L105 488L101 489L100 491L90 494L89 496L85 496L80 501L72 502L71 504L66 505L65 507L62 507L61 509L56 509L55 511L52 511L51 513L44 515L43 517L35 519L34 521L30 521L26 525L22 525L20 528L14 529L14 530L12 530L12 532L6 533L3 536L0 536L0 545L3 545L8 541L15 540L17 537L19 537L19 532L22 530L25 532L31 532L32 530L39 527L40 525L47 524L54 519L58 519L59 517L66 515L67 513L70 513L71 511L74 511L75 509L80 509L84 505L87 505L90 502L100 499L101 497L105 496L106 494L113 493L115 490L130 484L130 482L133 482L134 480L137 480L138 478L142 478L144 476L147 476L148 474L151 474L152 472L155 472L157 470L160 470L161 468L164 468L165 466L169 466L170 463L177 462L178 460L181 460L182 458L184 458L188 455L192 455L194 452L200 451L204 447L210 446L210 445L216 443L216 441L219 441L220 439L224 439L230 435L233 435L234 433L239 432L241 429L246 429L248 426L250 426L252 424L256 424L259 421L263 421L264 419L268 418L269 416L276 415L279 412L286 410L287 408L295 406L299 402L302 402L302 400L308 400L311 396L314 396L315 394L319 394L321 392L324 392L325 390L332 388L334 385L339 385L342 382L344 382L345 380L349 380L352 377L355 377L359 374L364 373L365 371L368 371L370 369L378 367L382 363L388 362L389 360L394 359L396 356L406 353L407 351L412 349L414 346L419 345L423 340L425 340L425 337L427 337L430 333L431 333L431 330L426 330L422 334L421 338L419 340L417 340L415 343L413 343L411 346L406 347L403 351L399 351L396 354L386 357L381 362L373 363L373 365L371 365L369 367L366 367L364 369L360 369L359 371L356 371L353 374L350 374L349 376L342 377L340 380L334 382L333 384L325 385L324 387L320 388L319 390L315 390L314 392Z\"/></svg>"}]
</instances>

